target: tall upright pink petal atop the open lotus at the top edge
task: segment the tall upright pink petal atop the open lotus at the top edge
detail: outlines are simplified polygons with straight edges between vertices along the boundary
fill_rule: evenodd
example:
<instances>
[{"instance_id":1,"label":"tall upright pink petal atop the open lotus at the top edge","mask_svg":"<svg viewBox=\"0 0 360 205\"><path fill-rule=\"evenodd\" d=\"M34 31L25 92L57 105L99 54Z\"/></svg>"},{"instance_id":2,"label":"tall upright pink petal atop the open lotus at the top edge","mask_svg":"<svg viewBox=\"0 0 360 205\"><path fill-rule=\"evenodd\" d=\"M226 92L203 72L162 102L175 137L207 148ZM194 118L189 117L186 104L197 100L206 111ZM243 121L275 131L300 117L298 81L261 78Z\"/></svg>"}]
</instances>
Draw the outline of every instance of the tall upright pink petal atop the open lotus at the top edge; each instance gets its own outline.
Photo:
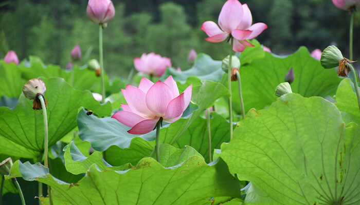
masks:
<instances>
[{"instance_id":1,"label":"tall upright pink petal atop the open lotus at the top edge","mask_svg":"<svg viewBox=\"0 0 360 205\"><path fill-rule=\"evenodd\" d=\"M228 0L219 14L219 26L223 31L231 33L240 24L242 16L243 8L240 2L238 0Z\"/></svg>"}]
</instances>

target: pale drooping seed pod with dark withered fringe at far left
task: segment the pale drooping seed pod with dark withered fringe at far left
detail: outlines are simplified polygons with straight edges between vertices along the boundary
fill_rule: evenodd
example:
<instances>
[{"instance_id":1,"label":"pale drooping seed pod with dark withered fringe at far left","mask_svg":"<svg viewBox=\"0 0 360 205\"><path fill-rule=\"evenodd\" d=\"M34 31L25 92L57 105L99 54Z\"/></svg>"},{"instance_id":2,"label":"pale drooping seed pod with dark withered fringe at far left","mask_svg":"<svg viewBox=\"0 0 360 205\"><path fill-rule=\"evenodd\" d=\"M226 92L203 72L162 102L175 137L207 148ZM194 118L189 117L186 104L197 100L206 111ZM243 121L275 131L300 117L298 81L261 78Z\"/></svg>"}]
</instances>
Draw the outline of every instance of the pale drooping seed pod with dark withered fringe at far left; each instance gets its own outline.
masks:
<instances>
[{"instance_id":1,"label":"pale drooping seed pod with dark withered fringe at far left","mask_svg":"<svg viewBox=\"0 0 360 205\"><path fill-rule=\"evenodd\" d=\"M23 87L23 93L25 97L34 100L32 104L32 109L34 110L42 109L39 96L42 95L44 97L45 91L46 91L46 86L44 81L38 78L30 79ZM46 106L46 101L45 101L45 106Z\"/></svg>"}]
</instances>

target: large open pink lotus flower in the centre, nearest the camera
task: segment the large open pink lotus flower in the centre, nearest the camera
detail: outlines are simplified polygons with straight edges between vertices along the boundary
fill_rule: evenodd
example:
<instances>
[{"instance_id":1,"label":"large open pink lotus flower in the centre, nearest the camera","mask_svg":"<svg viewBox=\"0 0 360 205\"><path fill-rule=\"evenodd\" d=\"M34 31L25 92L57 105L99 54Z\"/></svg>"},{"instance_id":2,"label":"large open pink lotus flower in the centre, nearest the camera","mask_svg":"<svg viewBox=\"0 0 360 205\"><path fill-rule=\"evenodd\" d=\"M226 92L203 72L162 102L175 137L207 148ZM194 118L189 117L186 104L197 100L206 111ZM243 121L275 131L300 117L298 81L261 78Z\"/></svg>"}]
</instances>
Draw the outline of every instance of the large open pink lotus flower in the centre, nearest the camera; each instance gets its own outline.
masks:
<instances>
[{"instance_id":1,"label":"large open pink lotus flower in the centre, nearest the camera","mask_svg":"<svg viewBox=\"0 0 360 205\"><path fill-rule=\"evenodd\" d=\"M128 105L121 104L123 111L115 113L112 118L132 127L130 134L145 134L154 130L160 117L172 123L178 120L191 99L192 85L179 95L175 80L170 75L164 83L155 84L149 79L141 78L139 88L128 85L121 89Z\"/></svg>"}]
</instances>

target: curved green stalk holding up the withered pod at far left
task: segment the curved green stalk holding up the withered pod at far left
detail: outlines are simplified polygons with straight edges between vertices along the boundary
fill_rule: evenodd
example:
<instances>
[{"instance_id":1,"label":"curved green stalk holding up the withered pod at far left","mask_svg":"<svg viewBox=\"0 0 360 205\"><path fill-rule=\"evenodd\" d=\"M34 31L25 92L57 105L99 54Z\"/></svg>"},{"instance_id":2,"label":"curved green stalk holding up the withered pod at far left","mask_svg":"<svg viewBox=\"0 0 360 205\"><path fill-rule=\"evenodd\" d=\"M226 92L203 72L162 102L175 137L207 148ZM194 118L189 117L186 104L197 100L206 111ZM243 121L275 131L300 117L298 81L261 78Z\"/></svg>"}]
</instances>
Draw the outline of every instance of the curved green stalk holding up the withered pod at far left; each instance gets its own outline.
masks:
<instances>
[{"instance_id":1,"label":"curved green stalk holding up the withered pod at far left","mask_svg":"<svg viewBox=\"0 0 360 205\"><path fill-rule=\"evenodd\" d=\"M48 127L47 127L47 113L46 113L46 105L45 99L43 95L39 95L39 100L41 102L41 107L43 108L43 116L44 116L44 165L46 168L49 168L48 162L48 152L49 152L49 142L48 142ZM42 189L42 188L41 188ZM40 188L39 188L40 190ZM52 197L51 197L51 187L47 186L47 192L49 195L50 204L52 204Z\"/></svg>"}]
</instances>

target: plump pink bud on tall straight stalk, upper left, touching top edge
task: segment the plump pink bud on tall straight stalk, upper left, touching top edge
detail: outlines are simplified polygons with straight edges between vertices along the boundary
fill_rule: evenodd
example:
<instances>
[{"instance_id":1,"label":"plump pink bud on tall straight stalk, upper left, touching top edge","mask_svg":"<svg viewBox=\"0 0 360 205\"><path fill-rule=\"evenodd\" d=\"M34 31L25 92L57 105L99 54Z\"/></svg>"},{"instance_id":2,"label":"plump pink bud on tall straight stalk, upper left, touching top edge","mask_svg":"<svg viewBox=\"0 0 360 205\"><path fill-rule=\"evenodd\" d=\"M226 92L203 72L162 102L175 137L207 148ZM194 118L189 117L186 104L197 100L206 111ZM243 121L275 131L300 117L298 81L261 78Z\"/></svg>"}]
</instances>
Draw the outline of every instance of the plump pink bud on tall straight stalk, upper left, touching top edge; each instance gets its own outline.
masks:
<instances>
[{"instance_id":1,"label":"plump pink bud on tall straight stalk, upper left, touching top edge","mask_svg":"<svg viewBox=\"0 0 360 205\"><path fill-rule=\"evenodd\" d=\"M92 22L104 24L114 18L115 8L110 0L89 0L86 14Z\"/></svg>"}]
</instances>

